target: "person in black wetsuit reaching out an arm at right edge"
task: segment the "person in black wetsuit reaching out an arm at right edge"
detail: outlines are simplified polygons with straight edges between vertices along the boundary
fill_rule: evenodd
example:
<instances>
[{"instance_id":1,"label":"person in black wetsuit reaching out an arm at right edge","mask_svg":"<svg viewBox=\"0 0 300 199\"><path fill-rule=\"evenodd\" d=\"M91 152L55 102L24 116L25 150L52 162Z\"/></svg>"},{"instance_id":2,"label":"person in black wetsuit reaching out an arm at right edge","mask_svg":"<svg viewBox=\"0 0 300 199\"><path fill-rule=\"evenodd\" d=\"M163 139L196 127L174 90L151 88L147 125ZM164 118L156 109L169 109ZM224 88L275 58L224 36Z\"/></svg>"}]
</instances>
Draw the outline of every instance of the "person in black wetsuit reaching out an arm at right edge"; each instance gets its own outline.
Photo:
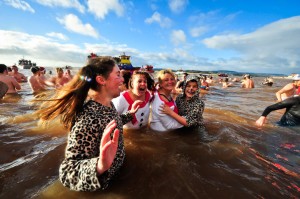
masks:
<instances>
[{"instance_id":1,"label":"person in black wetsuit reaching out an arm at right edge","mask_svg":"<svg viewBox=\"0 0 300 199\"><path fill-rule=\"evenodd\" d=\"M291 97L271 106L268 106L260 118L255 122L257 126L263 126L267 120L267 115L272 111L286 108L285 113L281 117L279 124L283 126L300 125L300 96Z\"/></svg>"}]
</instances>

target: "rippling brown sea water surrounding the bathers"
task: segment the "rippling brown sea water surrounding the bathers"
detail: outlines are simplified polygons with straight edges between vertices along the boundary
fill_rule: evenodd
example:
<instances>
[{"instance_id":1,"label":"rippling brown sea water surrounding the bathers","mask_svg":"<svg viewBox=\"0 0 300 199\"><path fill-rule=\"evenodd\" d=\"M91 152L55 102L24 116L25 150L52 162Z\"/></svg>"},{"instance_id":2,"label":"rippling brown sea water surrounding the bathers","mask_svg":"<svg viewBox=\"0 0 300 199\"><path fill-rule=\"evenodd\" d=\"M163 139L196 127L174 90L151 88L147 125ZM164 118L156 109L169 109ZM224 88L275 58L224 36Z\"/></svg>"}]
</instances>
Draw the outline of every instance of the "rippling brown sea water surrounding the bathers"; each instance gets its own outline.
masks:
<instances>
[{"instance_id":1,"label":"rippling brown sea water surrounding the bathers","mask_svg":"<svg viewBox=\"0 0 300 199\"><path fill-rule=\"evenodd\" d=\"M205 129L125 130L125 164L96 192L59 182L68 132L59 121L40 125L36 97L21 83L19 96L0 102L0 198L299 198L300 127L277 125L284 110L255 125L291 80L277 77L269 87L263 79L253 77L254 89L211 86L202 96Z\"/></svg>"}]
</instances>

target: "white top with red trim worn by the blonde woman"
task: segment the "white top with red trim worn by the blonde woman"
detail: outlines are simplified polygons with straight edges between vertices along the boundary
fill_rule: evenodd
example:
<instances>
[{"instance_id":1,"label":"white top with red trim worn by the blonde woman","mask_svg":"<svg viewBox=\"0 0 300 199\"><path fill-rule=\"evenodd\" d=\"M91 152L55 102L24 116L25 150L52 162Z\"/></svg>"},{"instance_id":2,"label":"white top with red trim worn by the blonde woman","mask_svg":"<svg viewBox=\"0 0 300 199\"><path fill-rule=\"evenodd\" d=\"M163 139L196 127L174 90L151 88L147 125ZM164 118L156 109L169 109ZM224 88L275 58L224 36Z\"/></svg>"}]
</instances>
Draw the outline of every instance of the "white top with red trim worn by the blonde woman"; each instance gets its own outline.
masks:
<instances>
[{"instance_id":1,"label":"white top with red trim worn by the blonde woman","mask_svg":"<svg viewBox=\"0 0 300 199\"><path fill-rule=\"evenodd\" d=\"M176 104L173 100L171 102L165 102L163 99L161 99L158 92L155 92L154 100L151 103L152 114L150 118L150 128L155 131L167 131L183 127L182 124L180 124L171 116L161 113L159 107L163 103L168 105L173 111L178 112Z\"/></svg>"}]
</instances>

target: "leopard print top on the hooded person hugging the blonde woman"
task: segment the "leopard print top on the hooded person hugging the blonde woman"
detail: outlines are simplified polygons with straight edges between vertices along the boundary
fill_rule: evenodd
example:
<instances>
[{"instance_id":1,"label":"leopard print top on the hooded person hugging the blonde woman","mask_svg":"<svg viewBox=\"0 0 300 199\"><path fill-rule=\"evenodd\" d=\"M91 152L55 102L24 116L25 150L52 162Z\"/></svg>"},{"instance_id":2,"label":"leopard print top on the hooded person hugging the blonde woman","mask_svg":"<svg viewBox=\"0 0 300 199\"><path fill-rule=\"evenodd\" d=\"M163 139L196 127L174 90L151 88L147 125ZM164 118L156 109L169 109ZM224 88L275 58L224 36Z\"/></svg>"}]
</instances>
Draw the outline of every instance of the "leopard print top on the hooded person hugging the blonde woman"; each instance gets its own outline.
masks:
<instances>
[{"instance_id":1,"label":"leopard print top on the hooded person hugging the blonde woman","mask_svg":"<svg viewBox=\"0 0 300 199\"><path fill-rule=\"evenodd\" d=\"M186 101L185 96L180 94L175 102L178 107L178 114L186 118L188 127L204 127L202 115L205 104L198 95Z\"/></svg>"}]
</instances>

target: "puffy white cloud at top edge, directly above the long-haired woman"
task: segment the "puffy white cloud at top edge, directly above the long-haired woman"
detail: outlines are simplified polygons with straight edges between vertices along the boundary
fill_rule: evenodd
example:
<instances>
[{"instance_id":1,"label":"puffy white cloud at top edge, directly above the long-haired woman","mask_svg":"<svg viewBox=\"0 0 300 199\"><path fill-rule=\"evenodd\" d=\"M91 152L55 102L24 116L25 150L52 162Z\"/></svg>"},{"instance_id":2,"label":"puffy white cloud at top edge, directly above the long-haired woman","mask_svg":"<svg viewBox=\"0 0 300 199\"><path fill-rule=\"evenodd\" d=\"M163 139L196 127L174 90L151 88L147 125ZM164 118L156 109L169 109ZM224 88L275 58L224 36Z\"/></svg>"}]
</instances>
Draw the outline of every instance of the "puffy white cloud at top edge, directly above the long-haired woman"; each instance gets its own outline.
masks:
<instances>
[{"instance_id":1,"label":"puffy white cloud at top edge, directly above the long-haired woman","mask_svg":"<svg viewBox=\"0 0 300 199\"><path fill-rule=\"evenodd\" d=\"M88 0L88 10L99 19L104 19L109 11L114 11L118 16L123 16L124 7L119 0Z\"/></svg>"}]
</instances>

